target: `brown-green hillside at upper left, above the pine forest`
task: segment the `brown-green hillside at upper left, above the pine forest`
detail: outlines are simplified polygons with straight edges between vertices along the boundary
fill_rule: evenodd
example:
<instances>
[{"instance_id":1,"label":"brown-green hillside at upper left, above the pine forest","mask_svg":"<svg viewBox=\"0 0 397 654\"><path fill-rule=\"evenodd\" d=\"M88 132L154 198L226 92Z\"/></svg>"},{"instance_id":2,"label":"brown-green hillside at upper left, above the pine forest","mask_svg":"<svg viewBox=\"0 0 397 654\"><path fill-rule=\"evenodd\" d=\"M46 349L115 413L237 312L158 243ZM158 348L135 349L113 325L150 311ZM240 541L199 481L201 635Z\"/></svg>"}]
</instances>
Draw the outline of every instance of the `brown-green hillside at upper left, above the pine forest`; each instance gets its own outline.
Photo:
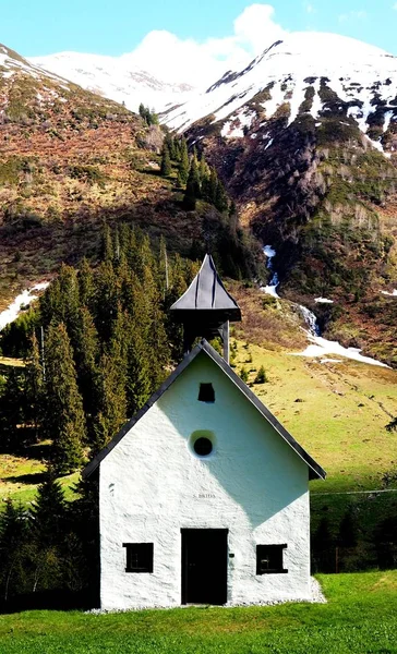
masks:
<instances>
[{"instance_id":1,"label":"brown-green hillside at upper left, above the pine forest","mask_svg":"<svg viewBox=\"0 0 397 654\"><path fill-rule=\"evenodd\" d=\"M181 254L204 238L216 250L219 213L183 210L176 171L159 174L158 125L1 48L0 308L61 262L95 258L104 221L134 222Z\"/></svg>"}]
</instances>

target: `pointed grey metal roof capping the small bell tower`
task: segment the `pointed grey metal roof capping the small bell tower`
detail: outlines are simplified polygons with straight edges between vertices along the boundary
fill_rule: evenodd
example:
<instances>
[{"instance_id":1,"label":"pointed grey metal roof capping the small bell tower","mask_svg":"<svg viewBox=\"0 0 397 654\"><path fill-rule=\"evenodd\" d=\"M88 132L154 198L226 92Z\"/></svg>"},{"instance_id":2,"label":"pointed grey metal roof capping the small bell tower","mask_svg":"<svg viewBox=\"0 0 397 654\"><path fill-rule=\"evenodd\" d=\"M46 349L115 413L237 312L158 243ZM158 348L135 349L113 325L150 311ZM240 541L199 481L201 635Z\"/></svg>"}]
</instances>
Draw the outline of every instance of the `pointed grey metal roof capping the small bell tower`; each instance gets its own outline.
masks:
<instances>
[{"instance_id":1,"label":"pointed grey metal roof capping the small bell tower","mask_svg":"<svg viewBox=\"0 0 397 654\"><path fill-rule=\"evenodd\" d=\"M229 319L241 320L240 307L227 292L214 259L206 254L189 289L171 306L171 311L219 311L230 313Z\"/></svg>"}]
</instances>

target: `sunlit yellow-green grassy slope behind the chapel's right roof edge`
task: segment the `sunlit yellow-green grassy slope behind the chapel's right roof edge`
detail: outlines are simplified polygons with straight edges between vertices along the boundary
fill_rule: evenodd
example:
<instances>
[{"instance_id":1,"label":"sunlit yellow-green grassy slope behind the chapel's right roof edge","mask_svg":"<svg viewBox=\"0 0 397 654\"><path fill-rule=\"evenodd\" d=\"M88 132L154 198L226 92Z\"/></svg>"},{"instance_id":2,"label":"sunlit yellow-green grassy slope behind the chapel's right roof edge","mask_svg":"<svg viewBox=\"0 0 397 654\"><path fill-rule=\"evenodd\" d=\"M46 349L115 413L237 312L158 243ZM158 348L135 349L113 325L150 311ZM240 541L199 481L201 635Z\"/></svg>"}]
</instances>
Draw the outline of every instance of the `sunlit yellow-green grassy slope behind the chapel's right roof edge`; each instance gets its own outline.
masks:
<instances>
[{"instance_id":1,"label":"sunlit yellow-green grassy slope behind the chapel's right roof edge","mask_svg":"<svg viewBox=\"0 0 397 654\"><path fill-rule=\"evenodd\" d=\"M268 383L253 390L328 473L313 491L380 488L396 459L397 434L385 425L397 415L397 372L293 356L306 341L289 304L269 304L254 291L244 291L239 302L245 319L236 335L252 344L238 348L236 368L264 365Z\"/></svg>"}]
</instances>

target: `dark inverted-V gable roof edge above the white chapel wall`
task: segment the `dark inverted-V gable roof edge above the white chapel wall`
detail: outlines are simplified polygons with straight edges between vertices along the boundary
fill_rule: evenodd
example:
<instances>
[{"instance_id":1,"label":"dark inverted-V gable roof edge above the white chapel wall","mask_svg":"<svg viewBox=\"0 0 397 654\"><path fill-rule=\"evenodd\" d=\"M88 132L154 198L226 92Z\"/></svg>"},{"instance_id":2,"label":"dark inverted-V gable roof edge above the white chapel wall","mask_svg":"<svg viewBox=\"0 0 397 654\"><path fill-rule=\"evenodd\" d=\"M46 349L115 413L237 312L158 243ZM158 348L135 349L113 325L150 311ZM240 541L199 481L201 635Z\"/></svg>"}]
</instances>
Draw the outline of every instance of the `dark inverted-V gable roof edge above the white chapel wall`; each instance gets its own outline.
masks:
<instances>
[{"instance_id":1,"label":"dark inverted-V gable roof edge above the white chapel wall","mask_svg":"<svg viewBox=\"0 0 397 654\"><path fill-rule=\"evenodd\" d=\"M181 373L188 367L188 365L200 354L201 352L205 352L209 359L212 359L229 377L229 379L236 384L236 386L241 390L241 392L245 396L245 398L257 409L257 411L263 415L267 422L275 428L275 431L284 438L286 443L297 452L297 455L306 463L309 467L309 479L325 479L326 472L323 470L318 463L312 459L310 455L297 443L297 440L287 432L287 429L278 422L277 417L273 415L273 413L261 402L261 400L250 390L250 388L238 377L238 375L231 370L231 367L226 363L226 361L219 356L219 354L212 348L212 346L206 341L202 340L189 354L187 354L183 361L178 365L178 367L173 371L173 373L165 380L165 383L160 386L158 390L147 400L146 404L132 417L121 429L120 432L110 440L110 443L104 447L103 450L88 463L88 465L83 470L83 477L88 477L93 474L93 472L98 468L101 461L108 456L108 453L117 446L118 443L130 432L130 429L137 423L139 420L157 402L157 400L168 390L168 388L173 384L173 382L179 377Z\"/></svg>"}]
</instances>

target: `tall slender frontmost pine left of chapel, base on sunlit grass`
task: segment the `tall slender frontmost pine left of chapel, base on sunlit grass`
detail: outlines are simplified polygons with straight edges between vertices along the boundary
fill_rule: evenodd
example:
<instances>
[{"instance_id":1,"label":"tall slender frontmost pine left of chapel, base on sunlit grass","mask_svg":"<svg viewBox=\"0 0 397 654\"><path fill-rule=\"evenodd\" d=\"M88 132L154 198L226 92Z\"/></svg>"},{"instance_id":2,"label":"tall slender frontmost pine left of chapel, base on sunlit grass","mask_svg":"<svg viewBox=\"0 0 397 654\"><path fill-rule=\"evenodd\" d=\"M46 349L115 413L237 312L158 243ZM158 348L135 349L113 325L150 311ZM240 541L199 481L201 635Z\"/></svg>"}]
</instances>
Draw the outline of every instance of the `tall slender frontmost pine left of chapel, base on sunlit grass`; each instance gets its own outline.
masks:
<instances>
[{"instance_id":1,"label":"tall slender frontmost pine left of chapel, base on sunlit grass","mask_svg":"<svg viewBox=\"0 0 397 654\"><path fill-rule=\"evenodd\" d=\"M77 388L72 349L63 323L51 324L47 337L46 434L52 438L52 463L57 473L68 474L83 462L86 437L83 402Z\"/></svg>"}]
</instances>

